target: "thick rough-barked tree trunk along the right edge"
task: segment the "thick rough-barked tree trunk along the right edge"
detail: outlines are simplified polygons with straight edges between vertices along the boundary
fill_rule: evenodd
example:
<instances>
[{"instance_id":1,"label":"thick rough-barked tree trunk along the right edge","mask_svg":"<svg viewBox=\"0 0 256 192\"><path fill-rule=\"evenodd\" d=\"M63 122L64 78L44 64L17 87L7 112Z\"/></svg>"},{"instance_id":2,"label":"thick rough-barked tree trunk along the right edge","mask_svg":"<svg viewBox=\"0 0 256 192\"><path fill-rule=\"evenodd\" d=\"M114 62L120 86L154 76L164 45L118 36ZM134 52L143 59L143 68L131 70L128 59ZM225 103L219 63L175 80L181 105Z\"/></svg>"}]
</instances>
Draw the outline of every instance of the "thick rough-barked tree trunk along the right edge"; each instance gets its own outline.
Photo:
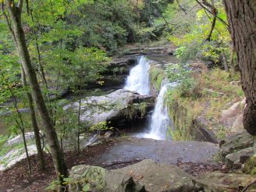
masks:
<instances>
[{"instance_id":1,"label":"thick rough-barked tree trunk along the right edge","mask_svg":"<svg viewBox=\"0 0 256 192\"><path fill-rule=\"evenodd\" d=\"M244 109L244 128L252 135L256 135L256 1L223 2L247 101Z\"/></svg>"}]
</instances>

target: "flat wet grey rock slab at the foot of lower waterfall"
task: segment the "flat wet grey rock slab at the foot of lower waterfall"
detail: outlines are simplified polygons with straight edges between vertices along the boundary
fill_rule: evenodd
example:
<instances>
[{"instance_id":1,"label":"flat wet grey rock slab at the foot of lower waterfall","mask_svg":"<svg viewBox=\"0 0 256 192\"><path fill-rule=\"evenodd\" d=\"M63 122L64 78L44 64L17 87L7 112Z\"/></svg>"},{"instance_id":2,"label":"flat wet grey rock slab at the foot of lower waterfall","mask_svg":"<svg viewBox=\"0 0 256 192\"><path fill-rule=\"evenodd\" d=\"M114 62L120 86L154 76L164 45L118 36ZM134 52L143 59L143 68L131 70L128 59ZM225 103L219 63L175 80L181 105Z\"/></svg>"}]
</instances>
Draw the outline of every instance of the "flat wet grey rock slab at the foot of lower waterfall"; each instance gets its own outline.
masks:
<instances>
[{"instance_id":1,"label":"flat wet grey rock slab at the foot of lower waterfall","mask_svg":"<svg viewBox=\"0 0 256 192\"><path fill-rule=\"evenodd\" d=\"M213 162L218 153L217 144L197 141L166 141L146 138L120 137L116 144L105 151L99 159L105 165L113 162L129 162L134 159L153 159L156 162Z\"/></svg>"}]
</instances>

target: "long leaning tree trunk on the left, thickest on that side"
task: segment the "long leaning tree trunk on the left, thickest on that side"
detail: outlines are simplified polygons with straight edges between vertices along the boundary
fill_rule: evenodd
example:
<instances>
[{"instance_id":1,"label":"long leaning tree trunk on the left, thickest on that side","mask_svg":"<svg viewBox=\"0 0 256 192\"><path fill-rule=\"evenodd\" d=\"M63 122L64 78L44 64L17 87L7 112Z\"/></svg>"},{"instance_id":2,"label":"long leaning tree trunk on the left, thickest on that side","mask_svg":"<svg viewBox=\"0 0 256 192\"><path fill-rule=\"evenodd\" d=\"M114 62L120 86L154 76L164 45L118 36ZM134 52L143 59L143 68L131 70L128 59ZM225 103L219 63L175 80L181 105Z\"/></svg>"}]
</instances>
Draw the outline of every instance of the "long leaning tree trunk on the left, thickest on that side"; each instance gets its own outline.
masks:
<instances>
[{"instance_id":1,"label":"long leaning tree trunk on the left, thickest on that side","mask_svg":"<svg viewBox=\"0 0 256 192\"><path fill-rule=\"evenodd\" d=\"M62 183L63 177L67 176L67 168L64 162L62 150L59 146L59 140L54 126L52 125L52 119L48 114L48 110L44 103L44 98L39 87L37 76L33 66L31 65L30 54L27 49L25 34L21 24L21 11L22 5L16 6L15 2L6 0L6 6L9 12L10 20L12 21L12 35L16 41L16 47L20 60L22 62L23 69L27 76L28 83L32 89L32 96L37 104L38 112L40 113L42 123L44 126L44 133L48 140L48 144L51 150L52 160L55 165L55 170L58 175L59 181Z\"/></svg>"}]
</instances>

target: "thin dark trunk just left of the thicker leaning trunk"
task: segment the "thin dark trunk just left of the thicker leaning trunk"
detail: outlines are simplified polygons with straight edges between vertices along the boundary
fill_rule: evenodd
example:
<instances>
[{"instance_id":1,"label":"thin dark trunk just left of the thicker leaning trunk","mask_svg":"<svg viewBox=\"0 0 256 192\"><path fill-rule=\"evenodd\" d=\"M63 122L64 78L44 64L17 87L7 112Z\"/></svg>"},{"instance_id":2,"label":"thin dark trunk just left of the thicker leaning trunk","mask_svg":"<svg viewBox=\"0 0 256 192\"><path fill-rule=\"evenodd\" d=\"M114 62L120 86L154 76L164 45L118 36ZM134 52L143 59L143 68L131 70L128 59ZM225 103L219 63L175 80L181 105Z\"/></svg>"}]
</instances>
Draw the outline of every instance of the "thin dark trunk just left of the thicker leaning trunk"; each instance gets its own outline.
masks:
<instances>
[{"instance_id":1,"label":"thin dark trunk just left of the thicker leaning trunk","mask_svg":"<svg viewBox=\"0 0 256 192\"><path fill-rule=\"evenodd\" d=\"M23 87L27 87L27 80L26 80L25 72L22 67L21 67L21 76L22 76L22 81L23 81ZM29 92L27 92L27 101L28 101L28 105L30 108L30 119L31 119L31 123L33 126L34 139L36 141L36 146L37 146L38 162L40 164L40 168L45 169L44 151L41 147L40 132L39 132L39 128L37 125L37 116L34 111L33 98Z\"/></svg>"}]
</instances>

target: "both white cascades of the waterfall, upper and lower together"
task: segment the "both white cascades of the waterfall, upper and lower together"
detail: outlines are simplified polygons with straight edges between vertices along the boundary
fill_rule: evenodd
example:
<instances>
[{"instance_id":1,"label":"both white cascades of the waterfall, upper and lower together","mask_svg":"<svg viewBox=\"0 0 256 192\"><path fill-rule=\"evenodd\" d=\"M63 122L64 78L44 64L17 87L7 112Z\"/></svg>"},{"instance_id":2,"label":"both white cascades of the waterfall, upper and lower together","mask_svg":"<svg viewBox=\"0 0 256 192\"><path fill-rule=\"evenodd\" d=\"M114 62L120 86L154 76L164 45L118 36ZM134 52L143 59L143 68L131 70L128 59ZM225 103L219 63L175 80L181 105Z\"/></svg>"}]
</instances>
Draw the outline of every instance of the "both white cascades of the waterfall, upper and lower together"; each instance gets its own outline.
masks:
<instances>
[{"instance_id":1,"label":"both white cascades of the waterfall, upper and lower together","mask_svg":"<svg viewBox=\"0 0 256 192\"><path fill-rule=\"evenodd\" d=\"M139 94L149 95L150 79L149 79L149 61L144 56L137 59L137 65L130 70L130 75L127 77L124 89L135 91ZM169 139L168 130L172 122L169 119L168 109L165 105L165 93L168 90L169 84L163 84L156 100L154 112L148 123L146 133L140 133L137 137L152 138L155 140Z\"/></svg>"}]
</instances>

